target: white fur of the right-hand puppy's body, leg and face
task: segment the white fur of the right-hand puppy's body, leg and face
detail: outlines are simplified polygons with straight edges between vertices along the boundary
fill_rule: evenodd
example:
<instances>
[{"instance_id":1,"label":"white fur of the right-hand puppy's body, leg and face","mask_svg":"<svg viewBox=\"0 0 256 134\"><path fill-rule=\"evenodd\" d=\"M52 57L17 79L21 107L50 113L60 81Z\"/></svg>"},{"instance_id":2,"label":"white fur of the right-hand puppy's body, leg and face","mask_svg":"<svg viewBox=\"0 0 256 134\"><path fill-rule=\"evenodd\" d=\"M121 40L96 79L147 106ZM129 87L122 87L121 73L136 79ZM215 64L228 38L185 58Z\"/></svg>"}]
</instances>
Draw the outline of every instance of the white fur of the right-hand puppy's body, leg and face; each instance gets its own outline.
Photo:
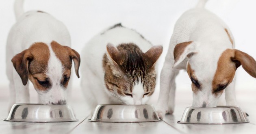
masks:
<instances>
[{"instance_id":1,"label":"white fur of the right-hand puppy's body, leg and face","mask_svg":"<svg viewBox=\"0 0 256 134\"><path fill-rule=\"evenodd\" d=\"M206 0L200 0L197 8L183 13L175 24L171 37L165 63L161 71L160 95L156 110L159 117L163 118L166 112L174 111L175 78L180 69L187 69L187 63L193 67L196 78L202 83L201 90L193 93L193 107L215 107L218 97L214 97L212 81L217 69L217 62L221 53L227 48L232 49L232 44L225 32L226 24L215 14L202 8ZM184 55L174 64L174 48L178 43L193 41L185 50ZM234 46L234 45L233 45ZM187 58L187 54L193 54ZM214 63L214 64L211 64ZM211 64L210 66L208 64ZM233 83L231 84L234 88ZM227 104L235 105L234 89L226 88ZM228 94L227 94L228 93ZM169 104L168 104L169 103Z\"/></svg>"}]
</instances>

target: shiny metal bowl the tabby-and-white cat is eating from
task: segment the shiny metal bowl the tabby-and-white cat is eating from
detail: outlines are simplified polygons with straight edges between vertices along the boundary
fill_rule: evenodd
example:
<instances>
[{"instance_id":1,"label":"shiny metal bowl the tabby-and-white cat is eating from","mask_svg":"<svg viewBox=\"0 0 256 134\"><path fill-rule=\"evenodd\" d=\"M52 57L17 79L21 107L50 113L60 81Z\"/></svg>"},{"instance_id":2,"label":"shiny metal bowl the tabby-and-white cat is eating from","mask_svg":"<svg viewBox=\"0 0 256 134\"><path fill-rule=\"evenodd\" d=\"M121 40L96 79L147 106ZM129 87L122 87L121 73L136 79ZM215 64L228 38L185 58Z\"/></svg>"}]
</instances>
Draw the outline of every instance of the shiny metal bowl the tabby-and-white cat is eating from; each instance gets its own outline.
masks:
<instances>
[{"instance_id":1,"label":"shiny metal bowl the tabby-and-white cat is eating from","mask_svg":"<svg viewBox=\"0 0 256 134\"><path fill-rule=\"evenodd\" d=\"M161 121L152 105L104 105L96 107L88 121L96 122L151 122Z\"/></svg>"}]
</instances>

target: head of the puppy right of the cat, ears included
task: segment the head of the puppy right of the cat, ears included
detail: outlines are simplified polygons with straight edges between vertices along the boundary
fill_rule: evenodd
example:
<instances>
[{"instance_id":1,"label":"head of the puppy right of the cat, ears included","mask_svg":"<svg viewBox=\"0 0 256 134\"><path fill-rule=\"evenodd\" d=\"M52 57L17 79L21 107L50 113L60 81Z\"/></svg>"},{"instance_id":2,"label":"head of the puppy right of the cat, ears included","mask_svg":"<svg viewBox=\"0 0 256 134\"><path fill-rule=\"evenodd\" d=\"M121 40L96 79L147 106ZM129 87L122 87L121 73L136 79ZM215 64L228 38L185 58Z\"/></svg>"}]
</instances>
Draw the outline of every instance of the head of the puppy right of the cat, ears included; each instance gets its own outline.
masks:
<instances>
[{"instance_id":1,"label":"head of the puppy right of the cat, ears included","mask_svg":"<svg viewBox=\"0 0 256 134\"><path fill-rule=\"evenodd\" d=\"M192 81L193 107L215 107L220 95L233 80L236 69L242 65L256 78L256 61L248 54L229 48L206 48L202 42L179 43L174 48L174 68L184 64ZM200 48L200 49L198 49Z\"/></svg>"}]
</instances>

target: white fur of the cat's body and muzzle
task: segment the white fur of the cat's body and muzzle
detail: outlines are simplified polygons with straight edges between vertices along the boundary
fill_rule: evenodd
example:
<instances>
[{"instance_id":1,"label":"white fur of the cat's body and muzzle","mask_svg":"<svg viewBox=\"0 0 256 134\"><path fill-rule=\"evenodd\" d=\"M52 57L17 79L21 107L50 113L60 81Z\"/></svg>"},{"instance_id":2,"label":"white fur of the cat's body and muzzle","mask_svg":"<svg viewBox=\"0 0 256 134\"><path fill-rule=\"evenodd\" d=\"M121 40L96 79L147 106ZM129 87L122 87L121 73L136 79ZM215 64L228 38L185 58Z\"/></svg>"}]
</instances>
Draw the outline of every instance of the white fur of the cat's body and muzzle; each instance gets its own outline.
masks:
<instances>
[{"instance_id":1,"label":"white fur of the cat's body and muzzle","mask_svg":"<svg viewBox=\"0 0 256 134\"><path fill-rule=\"evenodd\" d=\"M97 104L115 104L120 102L125 104L145 104L147 97L144 99L140 98L143 96L143 87L140 84L135 86L135 92L132 94L136 99L130 96L115 97L113 93L107 91L104 85L102 60L104 54L107 53L106 45L108 43L114 46L121 43L135 43L144 53L152 47L152 44L143 39L137 32L124 27L116 27L101 32L85 45L85 48L82 50L84 62L81 63L81 85L91 110L94 110ZM139 88L137 88L138 86Z\"/></svg>"}]
</instances>

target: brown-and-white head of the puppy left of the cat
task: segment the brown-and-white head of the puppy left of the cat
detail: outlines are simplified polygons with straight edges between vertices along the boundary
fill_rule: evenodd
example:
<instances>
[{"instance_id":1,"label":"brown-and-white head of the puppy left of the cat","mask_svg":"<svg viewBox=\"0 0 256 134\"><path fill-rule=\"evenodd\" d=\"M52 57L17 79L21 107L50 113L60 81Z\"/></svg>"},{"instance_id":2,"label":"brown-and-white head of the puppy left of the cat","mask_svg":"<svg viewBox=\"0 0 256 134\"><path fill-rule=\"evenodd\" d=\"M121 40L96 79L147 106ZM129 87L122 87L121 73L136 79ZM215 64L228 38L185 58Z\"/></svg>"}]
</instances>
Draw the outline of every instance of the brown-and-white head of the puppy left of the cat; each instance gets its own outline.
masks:
<instances>
[{"instance_id":1,"label":"brown-and-white head of the puppy left of the cat","mask_svg":"<svg viewBox=\"0 0 256 134\"><path fill-rule=\"evenodd\" d=\"M75 50L56 41L50 45L34 43L15 55L12 63L24 85L28 79L43 104L66 104L66 89L71 76L72 60L79 78L80 55Z\"/></svg>"}]
</instances>

